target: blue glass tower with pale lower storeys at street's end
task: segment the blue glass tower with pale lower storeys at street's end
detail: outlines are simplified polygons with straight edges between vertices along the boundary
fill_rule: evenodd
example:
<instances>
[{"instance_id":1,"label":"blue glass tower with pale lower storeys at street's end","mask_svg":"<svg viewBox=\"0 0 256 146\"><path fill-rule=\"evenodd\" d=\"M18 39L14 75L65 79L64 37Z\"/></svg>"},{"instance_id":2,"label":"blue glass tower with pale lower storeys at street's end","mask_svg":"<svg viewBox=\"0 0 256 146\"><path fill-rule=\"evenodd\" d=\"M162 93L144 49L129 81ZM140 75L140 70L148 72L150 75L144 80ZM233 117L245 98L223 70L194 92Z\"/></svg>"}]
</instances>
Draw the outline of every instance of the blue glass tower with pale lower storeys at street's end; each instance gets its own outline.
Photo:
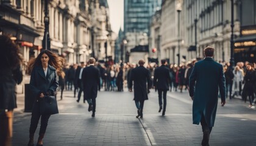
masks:
<instances>
[{"instance_id":1,"label":"blue glass tower with pale lower storeys at street's end","mask_svg":"<svg viewBox=\"0 0 256 146\"><path fill-rule=\"evenodd\" d=\"M129 54L130 49L135 46L148 45L151 16L160 9L161 4L162 0L124 0L126 54ZM126 55L124 58L129 57Z\"/></svg>"}]
</instances>

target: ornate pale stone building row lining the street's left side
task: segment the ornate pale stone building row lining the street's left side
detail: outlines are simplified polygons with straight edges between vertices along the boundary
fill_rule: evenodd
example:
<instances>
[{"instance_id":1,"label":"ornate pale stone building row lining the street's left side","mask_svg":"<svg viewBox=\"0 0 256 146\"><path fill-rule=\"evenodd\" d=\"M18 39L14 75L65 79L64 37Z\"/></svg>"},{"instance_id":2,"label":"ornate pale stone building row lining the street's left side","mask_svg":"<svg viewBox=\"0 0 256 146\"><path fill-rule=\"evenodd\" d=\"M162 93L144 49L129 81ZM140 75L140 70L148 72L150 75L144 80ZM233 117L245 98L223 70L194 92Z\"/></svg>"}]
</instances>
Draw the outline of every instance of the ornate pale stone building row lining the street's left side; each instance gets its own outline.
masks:
<instances>
[{"instance_id":1,"label":"ornate pale stone building row lining the street's left side","mask_svg":"<svg viewBox=\"0 0 256 146\"><path fill-rule=\"evenodd\" d=\"M43 49L46 2L0 1L0 29L20 44L25 64ZM106 0L48 0L51 50L64 57L67 64L73 64L87 61L91 56L102 59L107 42L107 54L113 56L115 43L107 9Z\"/></svg>"}]
</instances>

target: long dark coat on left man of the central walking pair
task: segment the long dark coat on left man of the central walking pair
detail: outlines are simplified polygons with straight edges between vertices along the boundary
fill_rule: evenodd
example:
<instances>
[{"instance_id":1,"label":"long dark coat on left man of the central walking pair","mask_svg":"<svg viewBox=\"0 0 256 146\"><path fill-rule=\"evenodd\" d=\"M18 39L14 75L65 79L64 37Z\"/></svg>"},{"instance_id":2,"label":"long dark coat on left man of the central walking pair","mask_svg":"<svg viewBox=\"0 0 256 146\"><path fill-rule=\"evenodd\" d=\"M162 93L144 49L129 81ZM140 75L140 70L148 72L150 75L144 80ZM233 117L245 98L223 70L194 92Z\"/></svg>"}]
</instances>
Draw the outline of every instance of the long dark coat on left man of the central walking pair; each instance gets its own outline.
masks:
<instances>
[{"instance_id":1,"label":"long dark coat on left man of the central walking pair","mask_svg":"<svg viewBox=\"0 0 256 146\"><path fill-rule=\"evenodd\" d=\"M132 88L134 82L134 99L135 101L139 100L148 100L147 92L147 82L148 89L150 88L150 76L149 70L144 68L144 66L138 66L135 69L132 69L130 73L129 88Z\"/></svg>"}]
</instances>

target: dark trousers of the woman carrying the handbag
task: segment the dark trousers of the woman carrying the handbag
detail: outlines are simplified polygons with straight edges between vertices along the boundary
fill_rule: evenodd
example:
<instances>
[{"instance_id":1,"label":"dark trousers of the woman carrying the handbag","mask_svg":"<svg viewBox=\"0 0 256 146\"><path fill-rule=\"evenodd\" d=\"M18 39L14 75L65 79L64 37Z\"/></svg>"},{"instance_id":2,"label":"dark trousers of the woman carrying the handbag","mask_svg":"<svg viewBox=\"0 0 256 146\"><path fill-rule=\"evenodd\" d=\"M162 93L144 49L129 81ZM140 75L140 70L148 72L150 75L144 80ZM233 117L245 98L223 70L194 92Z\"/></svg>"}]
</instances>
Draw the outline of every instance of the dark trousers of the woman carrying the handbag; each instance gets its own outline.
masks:
<instances>
[{"instance_id":1,"label":"dark trousers of the woman carrying the handbag","mask_svg":"<svg viewBox=\"0 0 256 146\"><path fill-rule=\"evenodd\" d=\"M30 120L29 134L34 134L37 130L38 121L41 117L41 125L39 134L44 134L48 125L48 120L51 114L41 115L39 102L35 101L32 109L32 116Z\"/></svg>"}]
</instances>

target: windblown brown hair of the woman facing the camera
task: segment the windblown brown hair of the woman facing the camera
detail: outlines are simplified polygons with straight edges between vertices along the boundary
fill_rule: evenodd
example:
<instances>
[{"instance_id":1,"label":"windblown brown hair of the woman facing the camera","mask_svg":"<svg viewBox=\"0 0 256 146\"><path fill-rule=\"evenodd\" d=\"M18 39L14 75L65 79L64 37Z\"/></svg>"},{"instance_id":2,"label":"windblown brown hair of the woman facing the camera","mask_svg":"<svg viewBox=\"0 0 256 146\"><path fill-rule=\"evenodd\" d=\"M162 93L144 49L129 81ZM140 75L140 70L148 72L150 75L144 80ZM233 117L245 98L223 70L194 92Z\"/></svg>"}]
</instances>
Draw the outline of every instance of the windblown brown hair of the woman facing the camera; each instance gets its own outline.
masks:
<instances>
[{"instance_id":1,"label":"windblown brown hair of the woman facing the camera","mask_svg":"<svg viewBox=\"0 0 256 146\"><path fill-rule=\"evenodd\" d=\"M60 71L59 68L62 68L63 59L61 57L58 57L57 54L54 54L51 52L51 50L42 50L41 53L37 56L37 58L31 58L29 60L29 74L31 74L32 69L35 66L41 66L41 55L46 54L49 57L48 64L53 66L57 71Z\"/></svg>"}]
</instances>

